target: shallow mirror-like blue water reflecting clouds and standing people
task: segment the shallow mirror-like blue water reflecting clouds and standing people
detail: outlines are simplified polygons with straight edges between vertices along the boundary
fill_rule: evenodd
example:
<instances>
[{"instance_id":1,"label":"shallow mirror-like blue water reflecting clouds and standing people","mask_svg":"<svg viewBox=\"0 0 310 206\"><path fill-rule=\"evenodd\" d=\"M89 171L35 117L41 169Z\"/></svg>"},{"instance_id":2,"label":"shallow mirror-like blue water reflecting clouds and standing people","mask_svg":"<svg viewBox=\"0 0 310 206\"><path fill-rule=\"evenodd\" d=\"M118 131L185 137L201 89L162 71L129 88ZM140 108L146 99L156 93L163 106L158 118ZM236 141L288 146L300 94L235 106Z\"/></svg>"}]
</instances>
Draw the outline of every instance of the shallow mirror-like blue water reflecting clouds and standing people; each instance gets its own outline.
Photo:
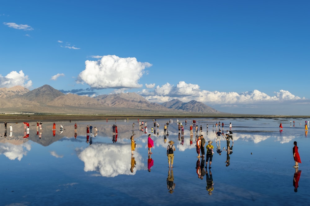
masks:
<instances>
[{"instance_id":1,"label":"shallow mirror-like blue water reflecting clouds and standing people","mask_svg":"<svg viewBox=\"0 0 310 206\"><path fill-rule=\"evenodd\" d=\"M79 121L74 138L75 122L43 122L39 139L36 123L30 123L28 138L24 124L8 123L7 137L1 127L0 160L2 177L0 196L2 205L194 205L203 203L230 205L308 205L309 200L309 141L304 131L304 119L196 119L202 134L213 141L212 125L224 122L224 131L232 123L234 145L230 165L226 166L226 140L222 137L221 155L215 152L212 168L213 191L206 190L206 175L198 178L195 143L189 144L189 125L182 122L184 145L179 141L177 119L169 124L169 136L164 142L163 126L168 119L158 119L160 127L154 140L151 172L148 172L147 134L139 131L138 121L117 121L117 141L113 143L114 121ZM153 120L144 120L151 133ZM282 123L283 131L279 132ZM300 126L301 123L302 125ZM64 126L60 133L59 125ZM92 145L86 143L86 125L98 128ZM206 130L208 124L208 131ZM9 134L9 125L13 132ZM291 126L291 127L290 127ZM222 127L220 128L222 129ZM3 130L3 131L2 131ZM157 130L157 128L156 128ZM131 168L130 137L135 134L135 167ZM157 132L157 131L156 131ZM93 128L94 133L94 128ZM226 132L225 132L226 133ZM11 137L10 137L11 136ZM175 187L167 187L168 141L175 142L173 176ZM194 138L195 141L195 138ZM297 141L302 170L298 192L294 192L295 169L292 148ZM232 141L230 141L232 145ZM202 161L202 159L199 159ZM171 173L170 173L171 174Z\"/></svg>"}]
</instances>

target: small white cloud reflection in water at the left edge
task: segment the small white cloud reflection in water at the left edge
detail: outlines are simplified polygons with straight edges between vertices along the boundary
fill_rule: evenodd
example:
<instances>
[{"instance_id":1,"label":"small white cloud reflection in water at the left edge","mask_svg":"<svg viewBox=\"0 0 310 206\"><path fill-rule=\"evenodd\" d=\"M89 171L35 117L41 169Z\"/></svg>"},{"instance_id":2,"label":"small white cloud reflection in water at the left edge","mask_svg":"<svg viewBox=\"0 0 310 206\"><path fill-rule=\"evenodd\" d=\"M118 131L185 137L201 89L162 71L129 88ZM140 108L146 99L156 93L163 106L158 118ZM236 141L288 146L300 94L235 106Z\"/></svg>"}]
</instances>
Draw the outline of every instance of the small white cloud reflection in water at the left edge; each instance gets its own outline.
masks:
<instances>
[{"instance_id":1,"label":"small white cloud reflection in water at the left edge","mask_svg":"<svg viewBox=\"0 0 310 206\"><path fill-rule=\"evenodd\" d=\"M0 154L4 154L10 160L16 158L20 161L24 155L27 155L27 150L30 151L31 146L28 142L23 145L13 145L11 143L0 144Z\"/></svg>"}]
</instances>

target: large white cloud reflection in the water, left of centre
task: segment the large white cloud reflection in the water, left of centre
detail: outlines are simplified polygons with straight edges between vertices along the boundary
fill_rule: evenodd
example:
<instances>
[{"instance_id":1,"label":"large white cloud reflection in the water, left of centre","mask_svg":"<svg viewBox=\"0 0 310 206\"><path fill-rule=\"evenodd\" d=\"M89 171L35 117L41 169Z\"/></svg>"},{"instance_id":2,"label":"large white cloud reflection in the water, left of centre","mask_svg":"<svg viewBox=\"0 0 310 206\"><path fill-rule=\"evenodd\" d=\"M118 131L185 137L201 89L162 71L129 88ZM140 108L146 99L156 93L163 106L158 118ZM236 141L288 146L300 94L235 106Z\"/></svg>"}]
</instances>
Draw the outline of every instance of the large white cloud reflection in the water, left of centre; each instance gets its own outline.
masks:
<instances>
[{"instance_id":1,"label":"large white cloud reflection in the water, left of centre","mask_svg":"<svg viewBox=\"0 0 310 206\"><path fill-rule=\"evenodd\" d=\"M137 162L131 173L130 144L92 144L86 149L76 149L78 158L84 162L84 171L96 171L104 177L115 177L119 174L134 175L136 170L144 169L142 157L135 152Z\"/></svg>"}]
</instances>

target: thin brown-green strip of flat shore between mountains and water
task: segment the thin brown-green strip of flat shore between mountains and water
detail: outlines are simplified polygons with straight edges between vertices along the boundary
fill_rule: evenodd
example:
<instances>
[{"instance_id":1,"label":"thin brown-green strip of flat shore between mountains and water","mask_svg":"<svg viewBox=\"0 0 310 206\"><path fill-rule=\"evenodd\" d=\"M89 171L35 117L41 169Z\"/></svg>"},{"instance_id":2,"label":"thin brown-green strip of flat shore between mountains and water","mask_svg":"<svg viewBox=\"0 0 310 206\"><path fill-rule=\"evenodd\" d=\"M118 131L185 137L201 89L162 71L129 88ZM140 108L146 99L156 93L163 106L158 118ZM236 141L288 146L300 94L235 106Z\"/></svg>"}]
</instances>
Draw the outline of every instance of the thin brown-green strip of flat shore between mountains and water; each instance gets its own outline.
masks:
<instances>
[{"instance_id":1,"label":"thin brown-green strip of flat shore between mountains and water","mask_svg":"<svg viewBox=\"0 0 310 206\"><path fill-rule=\"evenodd\" d=\"M307 118L309 119L310 116L294 116L294 115L248 115L248 114L131 114L131 115L113 115L113 114L105 114L105 115L97 115L97 114L90 114L90 115L76 115L76 114L44 114L44 115L33 115L33 114L0 114L0 121L7 121L7 122L29 122L29 121L91 121L91 120L106 120L106 119L116 119L116 120L135 120L135 119L164 119L164 118Z\"/></svg>"}]
</instances>

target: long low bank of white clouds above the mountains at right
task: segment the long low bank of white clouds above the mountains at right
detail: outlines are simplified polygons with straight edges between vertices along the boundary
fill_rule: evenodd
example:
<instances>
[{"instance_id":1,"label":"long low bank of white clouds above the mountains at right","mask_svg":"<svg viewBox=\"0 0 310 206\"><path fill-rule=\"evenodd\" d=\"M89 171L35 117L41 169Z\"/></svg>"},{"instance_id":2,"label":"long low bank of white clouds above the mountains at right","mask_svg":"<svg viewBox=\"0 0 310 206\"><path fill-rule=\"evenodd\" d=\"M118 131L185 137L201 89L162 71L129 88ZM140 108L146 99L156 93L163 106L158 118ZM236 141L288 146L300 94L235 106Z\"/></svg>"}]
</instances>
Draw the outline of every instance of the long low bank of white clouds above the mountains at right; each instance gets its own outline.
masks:
<instances>
[{"instance_id":1,"label":"long low bank of white clouds above the mountains at right","mask_svg":"<svg viewBox=\"0 0 310 206\"><path fill-rule=\"evenodd\" d=\"M276 95L274 96L269 96L259 90L242 93L207 91L201 90L197 84L188 84L184 81L180 81L176 86L167 82L162 86L157 86L152 91L144 89L139 94L147 100L157 103L179 99L183 102L196 100L205 104L251 104L301 99L286 90L275 92Z\"/></svg>"}]
</instances>

